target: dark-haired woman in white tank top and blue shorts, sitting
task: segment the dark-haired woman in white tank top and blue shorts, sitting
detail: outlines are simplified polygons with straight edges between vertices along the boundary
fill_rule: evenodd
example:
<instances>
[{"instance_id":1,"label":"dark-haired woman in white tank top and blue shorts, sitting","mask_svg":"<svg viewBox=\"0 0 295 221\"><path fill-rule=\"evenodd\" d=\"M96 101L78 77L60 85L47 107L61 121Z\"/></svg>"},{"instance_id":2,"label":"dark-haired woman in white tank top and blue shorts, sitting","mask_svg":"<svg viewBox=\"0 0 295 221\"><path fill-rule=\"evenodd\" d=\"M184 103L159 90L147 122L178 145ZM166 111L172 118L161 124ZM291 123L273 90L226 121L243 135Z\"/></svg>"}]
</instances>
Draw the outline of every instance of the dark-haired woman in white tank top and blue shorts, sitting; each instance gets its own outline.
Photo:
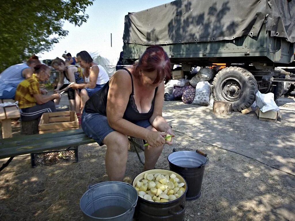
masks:
<instances>
[{"instance_id":1,"label":"dark-haired woman in white tank top and blue shorts, sitting","mask_svg":"<svg viewBox=\"0 0 295 221\"><path fill-rule=\"evenodd\" d=\"M109 76L106 70L99 64L93 62L93 59L87 51L81 51L77 54L77 60L82 68L84 68L84 84L72 84L76 91L76 103L81 101L81 112L83 111L85 102L96 91L99 91L106 82L109 81Z\"/></svg>"}]
</instances>

